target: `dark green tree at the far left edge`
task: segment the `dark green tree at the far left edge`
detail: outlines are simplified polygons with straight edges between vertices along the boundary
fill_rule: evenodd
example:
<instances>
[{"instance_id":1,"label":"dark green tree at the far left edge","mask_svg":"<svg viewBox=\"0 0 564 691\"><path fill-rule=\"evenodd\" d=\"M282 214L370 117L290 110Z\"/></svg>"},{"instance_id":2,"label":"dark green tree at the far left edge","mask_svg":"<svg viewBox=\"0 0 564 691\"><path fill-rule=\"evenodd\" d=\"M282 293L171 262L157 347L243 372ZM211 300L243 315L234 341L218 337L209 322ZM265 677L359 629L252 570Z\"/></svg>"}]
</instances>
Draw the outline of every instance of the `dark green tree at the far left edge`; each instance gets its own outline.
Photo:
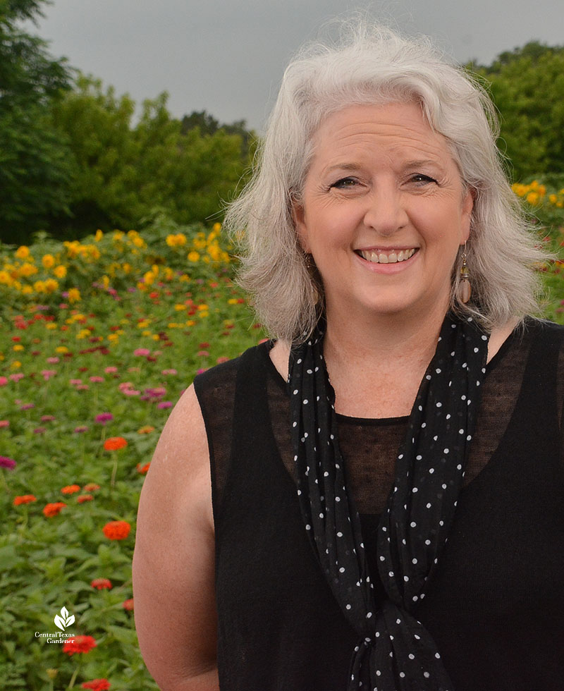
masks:
<instances>
[{"instance_id":1,"label":"dark green tree at the far left edge","mask_svg":"<svg viewBox=\"0 0 564 691\"><path fill-rule=\"evenodd\" d=\"M67 209L72 175L67 142L50 104L71 85L66 61L20 28L42 16L44 0L0 0L0 239L25 242Z\"/></svg>"}]
</instances>

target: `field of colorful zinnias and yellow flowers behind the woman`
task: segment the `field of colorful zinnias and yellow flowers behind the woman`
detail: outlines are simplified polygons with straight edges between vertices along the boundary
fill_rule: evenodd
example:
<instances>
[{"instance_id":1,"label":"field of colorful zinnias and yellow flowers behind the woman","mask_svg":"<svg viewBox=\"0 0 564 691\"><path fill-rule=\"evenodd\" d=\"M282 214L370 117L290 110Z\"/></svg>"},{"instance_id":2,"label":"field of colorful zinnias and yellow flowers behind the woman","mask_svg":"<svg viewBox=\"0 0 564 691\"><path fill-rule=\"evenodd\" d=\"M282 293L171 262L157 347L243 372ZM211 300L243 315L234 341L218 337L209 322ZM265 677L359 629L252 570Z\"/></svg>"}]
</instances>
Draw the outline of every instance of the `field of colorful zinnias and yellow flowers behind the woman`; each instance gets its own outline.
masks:
<instances>
[{"instance_id":1,"label":"field of colorful zinnias and yellow flowers behind the woman","mask_svg":"<svg viewBox=\"0 0 564 691\"><path fill-rule=\"evenodd\" d=\"M564 190L515 187L558 248ZM0 245L0 688L156 689L133 623L135 514L201 369L264 337L212 228ZM541 267L564 322L564 264Z\"/></svg>"}]
</instances>

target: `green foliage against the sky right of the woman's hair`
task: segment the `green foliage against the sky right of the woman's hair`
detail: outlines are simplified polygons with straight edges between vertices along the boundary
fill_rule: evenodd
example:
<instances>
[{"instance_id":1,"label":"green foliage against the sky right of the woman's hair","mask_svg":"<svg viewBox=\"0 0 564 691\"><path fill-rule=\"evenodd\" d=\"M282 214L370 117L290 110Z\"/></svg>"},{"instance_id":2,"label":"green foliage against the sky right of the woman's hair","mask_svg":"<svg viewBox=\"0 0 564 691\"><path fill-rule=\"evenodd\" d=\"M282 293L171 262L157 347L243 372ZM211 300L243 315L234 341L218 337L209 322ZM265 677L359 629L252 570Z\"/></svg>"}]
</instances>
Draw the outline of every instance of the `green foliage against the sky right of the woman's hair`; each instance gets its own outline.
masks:
<instances>
[{"instance_id":1,"label":"green foliage against the sky right of the woman's hair","mask_svg":"<svg viewBox=\"0 0 564 691\"><path fill-rule=\"evenodd\" d=\"M500 111L498 145L513 179L564 171L564 47L530 42L489 67L471 67L489 82Z\"/></svg>"}]
</instances>

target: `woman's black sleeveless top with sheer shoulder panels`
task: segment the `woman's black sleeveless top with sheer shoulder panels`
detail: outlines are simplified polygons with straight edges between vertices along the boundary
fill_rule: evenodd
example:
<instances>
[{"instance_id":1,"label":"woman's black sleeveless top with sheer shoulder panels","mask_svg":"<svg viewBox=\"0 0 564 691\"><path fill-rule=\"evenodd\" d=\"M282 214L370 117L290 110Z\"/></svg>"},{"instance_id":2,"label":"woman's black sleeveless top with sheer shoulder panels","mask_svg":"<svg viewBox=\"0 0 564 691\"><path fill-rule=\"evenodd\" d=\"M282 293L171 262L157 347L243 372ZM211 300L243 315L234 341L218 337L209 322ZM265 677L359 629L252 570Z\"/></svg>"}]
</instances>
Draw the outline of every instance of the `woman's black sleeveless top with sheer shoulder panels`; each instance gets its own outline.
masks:
<instances>
[{"instance_id":1,"label":"woman's black sleeveless top with sheer shoulder panels","mask_svg":"<svg viewBox=\"0 0 564 691\"><path fill-rule=\"evenodd\" d=\"M563 340L563 327L529 319L487 368L455 522L414 609L455 691L564 688ZM212 463L221 691L343 691L357 636L305 532L269 344L195 389ZM338 416L380 600L376 528L406 425Z\"/></svg>"}]
</instances>

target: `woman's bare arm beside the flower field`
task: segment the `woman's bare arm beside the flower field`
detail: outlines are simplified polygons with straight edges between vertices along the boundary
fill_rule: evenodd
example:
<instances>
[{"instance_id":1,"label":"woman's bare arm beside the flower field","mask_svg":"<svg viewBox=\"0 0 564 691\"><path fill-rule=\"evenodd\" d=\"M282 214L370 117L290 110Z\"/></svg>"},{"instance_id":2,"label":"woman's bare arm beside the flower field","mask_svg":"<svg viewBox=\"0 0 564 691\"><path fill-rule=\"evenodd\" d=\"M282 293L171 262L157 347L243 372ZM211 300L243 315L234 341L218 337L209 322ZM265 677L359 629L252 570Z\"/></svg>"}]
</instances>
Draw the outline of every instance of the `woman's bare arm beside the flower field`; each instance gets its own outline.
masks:
<instances>
[{"instance_id":1,"label":"woman's bare arm beside the flower field","mask_svg":"<svg viewBox=\"0 0 564 691\"><path fill-rule=\"evenodd\" d=\"M219 690L212 487L193 386L166 422L142 489L133 594L141 652L161 690Z\"/></svg>"}]
</instances>

